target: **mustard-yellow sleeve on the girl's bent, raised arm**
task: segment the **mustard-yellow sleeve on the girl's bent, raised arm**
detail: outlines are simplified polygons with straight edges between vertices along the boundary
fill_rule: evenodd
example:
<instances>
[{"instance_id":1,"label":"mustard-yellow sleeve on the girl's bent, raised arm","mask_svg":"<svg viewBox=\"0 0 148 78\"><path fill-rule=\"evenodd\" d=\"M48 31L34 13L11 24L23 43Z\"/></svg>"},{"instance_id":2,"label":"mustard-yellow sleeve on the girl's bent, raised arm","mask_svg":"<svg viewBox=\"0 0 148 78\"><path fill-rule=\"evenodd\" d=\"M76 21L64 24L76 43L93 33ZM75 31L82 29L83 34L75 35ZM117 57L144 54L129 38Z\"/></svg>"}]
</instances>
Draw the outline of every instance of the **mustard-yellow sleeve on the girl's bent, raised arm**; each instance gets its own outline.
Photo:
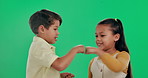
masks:
<instances>
[{"instance_id":1,"label":"mustard-yellow sleeve on the girl's bent, raised arm","mask_svg":"<svg viewBox=\"0 0 148 78\"><path fill-rule=\"evenodd\" d=\"M120 52L116 58L111 56L109 53L104 53L102 56L100 56L100 58L102 59L103 63L114 72L125 70L130 60L129 54L125 51Z\"/></svg>"}]
</instances>

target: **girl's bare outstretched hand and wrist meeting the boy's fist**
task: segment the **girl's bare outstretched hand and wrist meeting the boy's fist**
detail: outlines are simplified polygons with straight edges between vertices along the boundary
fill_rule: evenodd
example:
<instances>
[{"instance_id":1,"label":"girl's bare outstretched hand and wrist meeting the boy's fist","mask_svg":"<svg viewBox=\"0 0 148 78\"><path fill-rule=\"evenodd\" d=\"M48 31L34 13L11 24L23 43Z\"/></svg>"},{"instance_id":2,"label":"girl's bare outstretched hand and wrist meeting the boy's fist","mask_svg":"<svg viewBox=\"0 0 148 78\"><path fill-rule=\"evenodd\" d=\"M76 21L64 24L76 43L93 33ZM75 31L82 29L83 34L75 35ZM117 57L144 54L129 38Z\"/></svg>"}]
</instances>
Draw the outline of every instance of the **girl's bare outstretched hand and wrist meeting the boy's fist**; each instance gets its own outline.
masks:
<instances>
[{"instance_id":1,"label":"girl's bare outstretched hand and wrist meeting the boy's fist","mask_svg":"<svg viewBox=\"0 0 148 78\"><path fill-rule=\"evenodd\" d=\"M85 54L96 54L98 56L101 56L102 54L104 54L104 51L101 50L100 48L86 47Z\"/></svg>"}]
</instances>

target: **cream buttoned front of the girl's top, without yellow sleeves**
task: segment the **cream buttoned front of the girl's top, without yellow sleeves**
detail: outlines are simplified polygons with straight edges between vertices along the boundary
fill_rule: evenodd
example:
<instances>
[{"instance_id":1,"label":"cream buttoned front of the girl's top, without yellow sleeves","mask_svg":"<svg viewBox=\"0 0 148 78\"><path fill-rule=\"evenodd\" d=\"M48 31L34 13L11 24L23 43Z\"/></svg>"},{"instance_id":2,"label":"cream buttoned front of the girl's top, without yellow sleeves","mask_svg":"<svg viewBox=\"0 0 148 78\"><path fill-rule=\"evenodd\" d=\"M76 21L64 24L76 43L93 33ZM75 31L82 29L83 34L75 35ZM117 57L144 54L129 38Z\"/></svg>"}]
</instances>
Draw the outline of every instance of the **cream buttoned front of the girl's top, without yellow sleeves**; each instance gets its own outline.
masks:
<instances>
[{"instance_id":1,"label":"cream buttoned front of the girl's top, without yellow sleeves","mask_svg":"<svg viewBox=\"0 0 148 78\"><path fill-rule=\"evenodd\" d=\"M118 53L117 53L118 54ZM113 57L116 58L117 54ZM92 78L125 78L126 74L123 72L111 71L102 61L95 57L91 64Z\"/></svg>"}]
</instances>

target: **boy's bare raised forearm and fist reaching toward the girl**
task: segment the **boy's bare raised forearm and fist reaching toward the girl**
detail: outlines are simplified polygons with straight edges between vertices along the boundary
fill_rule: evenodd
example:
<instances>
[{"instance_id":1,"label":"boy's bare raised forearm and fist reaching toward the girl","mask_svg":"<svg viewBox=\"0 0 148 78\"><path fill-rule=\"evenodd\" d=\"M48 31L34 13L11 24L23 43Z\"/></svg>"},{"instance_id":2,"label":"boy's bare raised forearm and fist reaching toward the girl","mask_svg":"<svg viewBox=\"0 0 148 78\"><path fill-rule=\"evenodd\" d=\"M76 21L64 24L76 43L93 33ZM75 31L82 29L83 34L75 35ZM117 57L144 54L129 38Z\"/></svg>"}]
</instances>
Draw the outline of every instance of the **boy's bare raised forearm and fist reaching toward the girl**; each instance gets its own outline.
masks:
<instances>
[{"instance_id":1,"label":"boy's bare raised forearm and fist reaching toward the girl","mask_svg":"<svg viewBox=\"0 0 148 78\"><path fill-rule=\"evenodd\" d=\"M84 52L84 46L79 45L70 50L69 53L67 53L63 57L57 58L53 63L52 67L58 71L62 71L68 67L68 65L71 63L71 61L74 59L75 55L77 53L83 53Z\"/></svg>"}]
</instances>

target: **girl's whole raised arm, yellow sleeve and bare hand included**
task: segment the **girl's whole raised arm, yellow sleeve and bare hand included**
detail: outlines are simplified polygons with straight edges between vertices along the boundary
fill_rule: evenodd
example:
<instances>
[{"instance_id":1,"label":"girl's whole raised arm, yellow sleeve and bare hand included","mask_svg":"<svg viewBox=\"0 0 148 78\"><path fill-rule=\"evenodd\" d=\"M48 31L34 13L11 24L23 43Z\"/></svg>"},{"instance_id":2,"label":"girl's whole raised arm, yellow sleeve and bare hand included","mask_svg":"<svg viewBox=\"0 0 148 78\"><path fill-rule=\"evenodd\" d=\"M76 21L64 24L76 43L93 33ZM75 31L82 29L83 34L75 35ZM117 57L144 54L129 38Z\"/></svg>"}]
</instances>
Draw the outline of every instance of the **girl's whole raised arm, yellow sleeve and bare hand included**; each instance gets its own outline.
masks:
<instances>
[{"instance_id":1,"label":"girl's whole raised arm, yellow sleeve and bare hand included","mask_svg":"<svg viewBox=\"0 0 148 78\"><path fill-rule=\"evenodd\" d=\"M129 64L130 56L127 52L119 52L116 58L114 58L109 53L105 53L102 50L94 47L87 47L86 54L97 54L106 66L114 71L120 72L124 71Z\"/></svg>"}]
</instances>

